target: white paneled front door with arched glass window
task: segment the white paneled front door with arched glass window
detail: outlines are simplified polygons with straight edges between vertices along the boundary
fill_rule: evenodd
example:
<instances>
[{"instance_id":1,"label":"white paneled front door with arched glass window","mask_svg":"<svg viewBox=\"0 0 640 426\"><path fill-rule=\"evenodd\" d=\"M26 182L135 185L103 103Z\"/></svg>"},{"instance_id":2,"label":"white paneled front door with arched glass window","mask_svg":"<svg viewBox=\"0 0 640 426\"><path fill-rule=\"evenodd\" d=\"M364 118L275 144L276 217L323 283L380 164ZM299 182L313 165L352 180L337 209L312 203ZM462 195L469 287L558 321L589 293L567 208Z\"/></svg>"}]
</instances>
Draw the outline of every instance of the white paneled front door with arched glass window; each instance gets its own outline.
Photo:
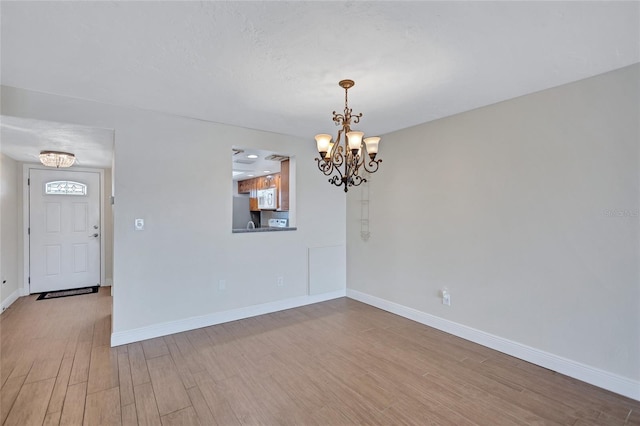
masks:
<instances>
[{"instance_id":1,"label":"white paneled front door with arched glass window","mask_svg":"<svg viewBox=\"0 0 640 426\"><path fill-rule=\"evenodd\" d=\"M100 174L29 171L30 293L99 285Z\"/></svg>"}]
</instances>

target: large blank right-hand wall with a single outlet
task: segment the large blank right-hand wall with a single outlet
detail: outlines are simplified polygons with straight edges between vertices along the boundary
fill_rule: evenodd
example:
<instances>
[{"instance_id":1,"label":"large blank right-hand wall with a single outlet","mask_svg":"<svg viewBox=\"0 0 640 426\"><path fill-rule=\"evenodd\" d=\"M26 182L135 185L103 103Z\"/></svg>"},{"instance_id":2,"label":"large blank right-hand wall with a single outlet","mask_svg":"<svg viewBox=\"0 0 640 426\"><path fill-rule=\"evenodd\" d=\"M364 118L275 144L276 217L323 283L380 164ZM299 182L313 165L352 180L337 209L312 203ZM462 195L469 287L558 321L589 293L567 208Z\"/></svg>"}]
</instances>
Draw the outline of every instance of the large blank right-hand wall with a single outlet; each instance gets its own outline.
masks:
<instances>
[{"instance_id":1,"label":"large blank right-hand wall with a single outlet","mask_svg":"<svg viewBox=\"0 0 640 426\"><path fill-rule=\"evenodd\" d=\"M386 135L368 242L349 193L348 289L637 383L639 82L634 65Z\"/></svg>"}]
</instances>

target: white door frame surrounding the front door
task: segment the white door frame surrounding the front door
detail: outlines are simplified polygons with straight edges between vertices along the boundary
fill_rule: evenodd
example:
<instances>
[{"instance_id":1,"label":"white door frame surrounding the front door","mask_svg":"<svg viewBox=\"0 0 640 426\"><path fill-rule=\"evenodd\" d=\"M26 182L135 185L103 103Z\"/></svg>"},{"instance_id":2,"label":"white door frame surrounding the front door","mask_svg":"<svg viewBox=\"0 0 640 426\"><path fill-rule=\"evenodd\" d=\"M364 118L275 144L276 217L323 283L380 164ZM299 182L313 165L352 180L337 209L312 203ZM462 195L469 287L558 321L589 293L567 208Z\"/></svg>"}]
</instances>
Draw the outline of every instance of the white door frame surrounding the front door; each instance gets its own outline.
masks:
<instances>
[{"instance_id":1,"label":"white door frame surrounding the front door","mask_svg":"<svg viewBox=\"0 0 640 426\"><path fill-rule=\"evenodd\" d=\"M36 163L25 163L22 165L22 237L23 237L23 254L22 254L22 288L20 288L21 296L28 296L30 293L29 275L31 273L31 259L30 259L30 239L29 239L29 185L27 179L29 179L30 170L46 170L55 171L51 167L45 167ZM74 167L73 169L64 169L64 171L77 171L77 172L91 172L98 173L100 180L100 285L106 284L105 280L105 247L104 247L104 169L92 169L88 167Z\"/></svg>"}]
</instances>

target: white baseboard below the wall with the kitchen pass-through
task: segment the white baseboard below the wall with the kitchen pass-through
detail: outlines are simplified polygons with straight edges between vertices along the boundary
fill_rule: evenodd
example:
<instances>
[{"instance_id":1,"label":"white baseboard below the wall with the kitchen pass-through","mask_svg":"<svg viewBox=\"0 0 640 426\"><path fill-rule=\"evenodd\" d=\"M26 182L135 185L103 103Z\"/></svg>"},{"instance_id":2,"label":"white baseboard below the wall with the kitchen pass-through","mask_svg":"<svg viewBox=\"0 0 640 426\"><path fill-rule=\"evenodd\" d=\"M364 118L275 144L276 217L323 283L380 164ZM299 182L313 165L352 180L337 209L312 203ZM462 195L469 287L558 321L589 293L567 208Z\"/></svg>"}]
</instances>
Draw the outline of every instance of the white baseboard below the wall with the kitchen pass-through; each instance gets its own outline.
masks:
<instances>
[{"instance_id":1,"label":"white baseboard below the wall with the kitchen pass-through","mask_svg":"<svg viewBox=\"0 0 640 426\"><path fill-rule=\"evenodd\" d=\"M139 342L141 340L153 339L154 337L167 336L169 334L194 330L196 328L209 327L211 325L270 314L272 312L283 311L285 309L298 308L300 306L311 305L312 303L324 302L326 300L337 299L344 296L346 296L345 290L338 290L330 293L317 294L313 296L300 296L292 299L263 303L261 305L216 312L199 317L185 318L163 324L154 324L147 327L135 328L133 330L119 331L111 333L111 346L120 346L127 343Z\"/></svg>"}]
</instances>

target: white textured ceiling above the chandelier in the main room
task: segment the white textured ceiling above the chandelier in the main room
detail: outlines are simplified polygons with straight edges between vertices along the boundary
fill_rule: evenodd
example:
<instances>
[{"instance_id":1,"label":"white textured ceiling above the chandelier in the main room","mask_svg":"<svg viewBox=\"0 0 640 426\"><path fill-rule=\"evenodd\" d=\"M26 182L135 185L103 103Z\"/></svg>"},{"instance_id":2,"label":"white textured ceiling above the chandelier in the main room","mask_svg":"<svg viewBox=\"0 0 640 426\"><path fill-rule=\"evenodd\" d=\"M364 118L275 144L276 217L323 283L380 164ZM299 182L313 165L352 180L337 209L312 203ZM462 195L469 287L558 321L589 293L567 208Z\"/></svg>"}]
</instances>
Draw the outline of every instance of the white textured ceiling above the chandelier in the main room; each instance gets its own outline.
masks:
<instances>
[{"instance_id":1,"label":"white textured ceiling above the chandelier in the main room","mask_svg":"<svg viewBox=\"0 0 640 426\"><path fill-rule=\"evenodd\" d=\"M4 85L308 137L384 134L640 61L630 2L2 2ZM384 143L384 142L383 142Z\"/></svg>"}]
</instances>

